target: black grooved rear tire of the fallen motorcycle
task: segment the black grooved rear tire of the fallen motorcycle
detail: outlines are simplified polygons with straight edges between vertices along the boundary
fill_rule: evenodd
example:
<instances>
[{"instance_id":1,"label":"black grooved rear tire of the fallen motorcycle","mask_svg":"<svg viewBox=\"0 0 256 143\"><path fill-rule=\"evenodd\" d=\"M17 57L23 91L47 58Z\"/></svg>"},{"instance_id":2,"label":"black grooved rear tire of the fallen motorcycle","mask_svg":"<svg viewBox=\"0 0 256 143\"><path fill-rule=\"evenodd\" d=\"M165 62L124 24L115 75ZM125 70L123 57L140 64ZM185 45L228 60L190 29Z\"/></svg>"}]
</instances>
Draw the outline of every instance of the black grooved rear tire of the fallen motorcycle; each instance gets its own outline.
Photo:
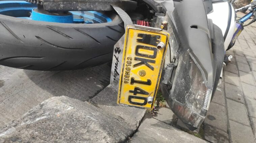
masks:
<instances>
[{"instance_id":1,"label":"black grooved rear tire of the fallen motorcycle","mask_svg":"<svg viewBox=\"0 0 256 143\"><path fill-rule=\"evenodd\" d=\"M124 34L123 21L105 12L107 23L34 21L0 14L0 64L31 70L74 70L106 63Z\"/></svg>"}]
</instances>

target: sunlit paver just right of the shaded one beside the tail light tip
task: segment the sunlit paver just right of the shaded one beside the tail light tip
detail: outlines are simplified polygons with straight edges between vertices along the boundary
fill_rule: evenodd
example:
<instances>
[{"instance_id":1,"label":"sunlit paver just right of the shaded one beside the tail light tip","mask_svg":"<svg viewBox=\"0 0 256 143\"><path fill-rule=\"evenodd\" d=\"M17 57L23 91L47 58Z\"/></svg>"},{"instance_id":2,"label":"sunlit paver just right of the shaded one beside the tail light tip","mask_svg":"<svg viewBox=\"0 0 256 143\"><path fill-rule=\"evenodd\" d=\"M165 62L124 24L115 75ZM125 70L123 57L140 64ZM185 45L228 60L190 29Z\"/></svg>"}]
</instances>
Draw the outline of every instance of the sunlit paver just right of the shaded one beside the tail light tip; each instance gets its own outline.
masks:
<instances>
[{"instance_id":1,"label":"sunlit paver just right of the shaded one beside the tail light tip","mask_svg":"<svg viewBox=\"0 0 256 143\"><path fill-rule=\"evenodd\" d=\"M250 126L246 107L244 104L227 99L228 118L230 120Z\"/></svg>"}]
</instances>

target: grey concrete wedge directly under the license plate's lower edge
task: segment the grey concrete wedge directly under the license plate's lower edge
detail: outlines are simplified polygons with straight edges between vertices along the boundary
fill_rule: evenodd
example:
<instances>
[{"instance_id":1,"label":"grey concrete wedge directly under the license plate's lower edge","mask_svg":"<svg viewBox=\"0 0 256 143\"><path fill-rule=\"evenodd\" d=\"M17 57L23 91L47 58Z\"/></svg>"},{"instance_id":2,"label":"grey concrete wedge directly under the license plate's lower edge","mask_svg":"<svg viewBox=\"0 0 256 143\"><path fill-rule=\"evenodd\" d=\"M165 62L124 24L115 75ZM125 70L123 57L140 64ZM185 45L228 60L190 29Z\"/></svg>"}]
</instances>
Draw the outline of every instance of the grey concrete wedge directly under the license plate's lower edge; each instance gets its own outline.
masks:
<instances>
[{"instance_id":1,"label":"grey concrete wedge directly under the license plate's lower edge","mask_svg":"<svg viewBox=\"0 0 256 143\"><path fill-rule=\"evenodd\" d=\"M94 98L88 100L95 106L101 108L108 113L112 113L117 117L126 120L132 127L138 127L139 122L144 117L146 110L129 107L124 105L117 104L117 89L108 85L105 89L103 89L100 93L98 93Z\"/></svg>"}]
</instances>

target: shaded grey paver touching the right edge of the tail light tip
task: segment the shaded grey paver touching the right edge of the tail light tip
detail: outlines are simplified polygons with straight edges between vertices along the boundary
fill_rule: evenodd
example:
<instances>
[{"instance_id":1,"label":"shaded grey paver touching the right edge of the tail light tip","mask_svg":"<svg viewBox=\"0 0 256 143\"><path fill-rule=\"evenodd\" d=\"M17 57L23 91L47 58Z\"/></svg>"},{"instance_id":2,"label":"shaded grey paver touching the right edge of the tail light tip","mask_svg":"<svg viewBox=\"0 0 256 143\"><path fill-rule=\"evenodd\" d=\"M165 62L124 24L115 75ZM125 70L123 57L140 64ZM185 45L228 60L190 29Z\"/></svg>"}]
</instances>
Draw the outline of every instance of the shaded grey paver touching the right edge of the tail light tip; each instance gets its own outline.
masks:
<instances>
[{"instance_id":1,"label":"shaded grey paver touching the right edge of the tail light tip","mask_svg":"<svg viewBox=\"0 0 256 143\"><path fill-rule=\"evenodd\" d=\"M227 115L225 107L211 102L204 123L227 132Z\"/></svg>"}]
</instances>

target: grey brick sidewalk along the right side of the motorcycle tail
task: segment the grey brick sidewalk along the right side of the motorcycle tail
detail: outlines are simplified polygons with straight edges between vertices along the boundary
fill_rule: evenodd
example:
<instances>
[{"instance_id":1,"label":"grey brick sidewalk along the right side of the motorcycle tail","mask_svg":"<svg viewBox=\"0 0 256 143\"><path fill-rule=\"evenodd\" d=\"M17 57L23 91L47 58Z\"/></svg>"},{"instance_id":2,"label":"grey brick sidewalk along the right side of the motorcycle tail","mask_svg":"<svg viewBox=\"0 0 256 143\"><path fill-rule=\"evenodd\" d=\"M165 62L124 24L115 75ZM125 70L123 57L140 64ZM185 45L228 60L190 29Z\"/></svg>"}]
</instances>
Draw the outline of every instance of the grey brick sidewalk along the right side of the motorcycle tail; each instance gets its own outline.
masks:
<instances>
[{"instance_id":1,"label":"grey brick sidewalk along the right side of the motorcycle tail","mask_svg":"<svg viewBox=\"0 0 256 143\"><path fill-rule=\"evenodd\" d=\"M224 69L204 122L211 142L255 142L256 127L256 27L245 27Z\"/></svg>"}]
</instances>

